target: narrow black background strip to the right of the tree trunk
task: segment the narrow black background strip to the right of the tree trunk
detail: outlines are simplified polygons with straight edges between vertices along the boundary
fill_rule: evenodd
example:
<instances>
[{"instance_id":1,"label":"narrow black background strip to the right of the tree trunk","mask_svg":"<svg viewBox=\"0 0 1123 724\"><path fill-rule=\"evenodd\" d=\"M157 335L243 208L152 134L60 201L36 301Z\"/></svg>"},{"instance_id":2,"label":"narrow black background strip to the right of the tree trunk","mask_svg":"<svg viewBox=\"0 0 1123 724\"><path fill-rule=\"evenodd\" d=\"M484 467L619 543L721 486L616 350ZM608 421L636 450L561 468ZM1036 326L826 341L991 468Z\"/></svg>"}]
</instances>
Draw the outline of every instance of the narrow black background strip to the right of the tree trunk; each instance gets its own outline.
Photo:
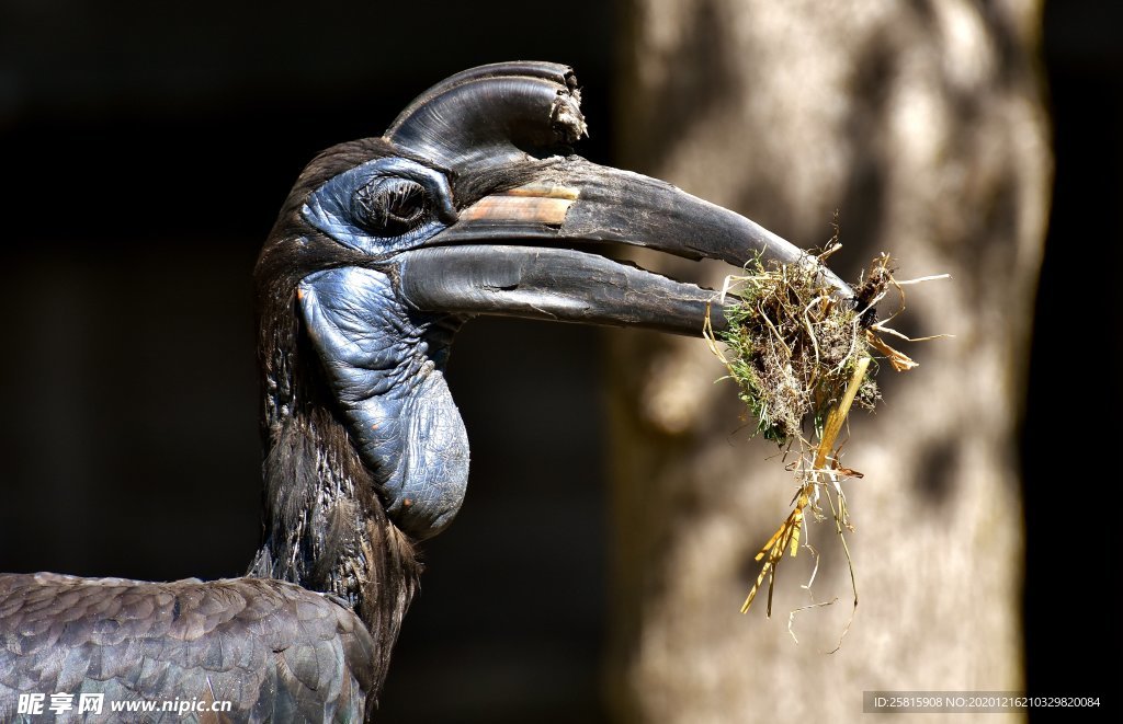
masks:
<instances>
[{"instance_id":1,"label":"narrow black background strip to the right of the tree trunk","mask_svg":"<svg viewBox=\"0 0 1123 724\"><path fill-rule=\"evenodd\" d=\"M1116 272L1123 267L1123 43L1115 28L1123 28L1123 3L1046 3L1056 176L1022 465L1029 687L1101 693L1117 711L1117 657L1107 655L1106 666L1081 663L1089 650L1123 646L1107 593L1123 550L1113 495L1101 492L1115 483L1097 472L1119 448L1123 410Z\"/></svg>"}]
</instances>

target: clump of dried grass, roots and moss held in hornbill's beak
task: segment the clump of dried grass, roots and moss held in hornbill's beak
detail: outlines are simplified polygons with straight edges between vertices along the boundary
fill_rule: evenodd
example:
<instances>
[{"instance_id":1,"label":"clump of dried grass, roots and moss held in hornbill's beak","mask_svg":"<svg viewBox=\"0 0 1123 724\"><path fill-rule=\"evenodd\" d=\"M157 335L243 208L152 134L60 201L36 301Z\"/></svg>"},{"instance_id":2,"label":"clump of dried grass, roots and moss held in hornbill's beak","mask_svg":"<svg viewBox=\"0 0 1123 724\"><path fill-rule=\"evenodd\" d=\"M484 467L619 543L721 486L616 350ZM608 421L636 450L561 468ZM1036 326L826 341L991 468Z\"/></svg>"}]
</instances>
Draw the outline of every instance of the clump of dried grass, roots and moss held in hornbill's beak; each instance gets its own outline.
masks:
<instances>
[{"instance_id":1,"label":"clump of dried grass, roots and moss held in hornbill's beak","mask_svg":"<svg viewBox=\"0 0 1123 724\"><path fill-rule=\"evenodd\" d=\"M838 249L834 243L819 256L819 261ZM878 368L875 358L884 359L897 371L916 366L883 338L886 335L909 338L886 326L886 322L904 310L903 287L947 276L898 281L893 277L889 256L882 254L855 286L855 298L844 299L818 273L818 268L819 264L812 263L766 264L757 259L746 266L745 275L729 277L715 300L723 308L728 329L714 334L706 319L705 335L711 350L737 382L738 395L748 407L756 433L787 446L796 456L788 464L797 482L792 511L757 555L757 560L763 559L764 564L742 613L752 605L767 577L768 615L772 615L776 568L785 551L792 556L798 551L806 517L827 518L824 504L830 509L850 563L857 607L857 584L843 535L853 528L842 482L861 474L842 466L838 437L852 406L873 410L880 399L874 380ZM886 322L878 322L876 306L891 290L898 293L898 308ZM813 440L804 436L807 420ZM804 547L816 555L806 544ZM814 572L806 588L810 590L813 579ZM834 601L812 603L804 609L831 603ZM795 613L801 610L792 612L789 631Z\"/></svg>"}]
</instances>

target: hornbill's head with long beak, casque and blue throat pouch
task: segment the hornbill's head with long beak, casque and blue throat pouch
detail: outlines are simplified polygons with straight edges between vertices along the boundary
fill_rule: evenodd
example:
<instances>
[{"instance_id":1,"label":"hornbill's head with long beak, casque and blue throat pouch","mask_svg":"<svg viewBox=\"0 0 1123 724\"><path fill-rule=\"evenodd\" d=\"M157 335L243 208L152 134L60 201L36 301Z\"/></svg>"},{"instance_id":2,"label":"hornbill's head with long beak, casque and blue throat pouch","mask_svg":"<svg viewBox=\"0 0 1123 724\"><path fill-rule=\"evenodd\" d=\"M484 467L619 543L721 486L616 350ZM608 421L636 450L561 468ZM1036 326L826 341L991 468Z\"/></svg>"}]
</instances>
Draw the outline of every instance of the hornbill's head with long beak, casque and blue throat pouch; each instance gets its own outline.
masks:
<instances>
[{"instance_id":1,"label":"hornbill's head with long beak, casque and blue throat pouch","mask_svg":"<svg viewBox=\"0 0 1123 724\"><path fill-rule=\"evenodd\" d=\"M314 403L311 374L294 371L301 351L314 356L381 504L413 539L451 521L468 479L467 435L442 374L462 322L494 314L701 334L712 291L612 261L603 244L737 267L758 253L819 263L736 213L570 155L585 134L579 98L570 68L550 63L455 75L382 138L314 159L262 252L266 435ZM716 307L712 319L723 325Z\"/></svg>"}]
</instances>

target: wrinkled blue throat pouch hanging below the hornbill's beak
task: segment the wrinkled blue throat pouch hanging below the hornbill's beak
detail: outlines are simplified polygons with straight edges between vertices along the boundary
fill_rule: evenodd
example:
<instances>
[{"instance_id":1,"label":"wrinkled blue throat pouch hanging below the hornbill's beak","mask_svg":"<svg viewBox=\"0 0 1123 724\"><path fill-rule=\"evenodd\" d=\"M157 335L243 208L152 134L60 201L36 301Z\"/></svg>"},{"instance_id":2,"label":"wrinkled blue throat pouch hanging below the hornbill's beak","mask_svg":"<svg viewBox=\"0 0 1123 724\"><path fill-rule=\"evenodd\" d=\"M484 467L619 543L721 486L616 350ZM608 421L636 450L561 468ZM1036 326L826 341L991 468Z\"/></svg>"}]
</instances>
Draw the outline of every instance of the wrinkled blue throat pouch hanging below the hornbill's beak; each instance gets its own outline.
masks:
<instances>
[{"instance_id":1,"label":"wrinkled blue throat pouch hanging below the hornbill's beak","mask_svg":"<svg viewBox=\"0 0 1123 724\"><path fill-rule=\"evenodd\" d=\"M445 380L455 327L394 297L381 271L305 277L300 308L359 455L391 519L416 538L456 516L468 484L468 436Z\"/></svg>"}]
</instances>

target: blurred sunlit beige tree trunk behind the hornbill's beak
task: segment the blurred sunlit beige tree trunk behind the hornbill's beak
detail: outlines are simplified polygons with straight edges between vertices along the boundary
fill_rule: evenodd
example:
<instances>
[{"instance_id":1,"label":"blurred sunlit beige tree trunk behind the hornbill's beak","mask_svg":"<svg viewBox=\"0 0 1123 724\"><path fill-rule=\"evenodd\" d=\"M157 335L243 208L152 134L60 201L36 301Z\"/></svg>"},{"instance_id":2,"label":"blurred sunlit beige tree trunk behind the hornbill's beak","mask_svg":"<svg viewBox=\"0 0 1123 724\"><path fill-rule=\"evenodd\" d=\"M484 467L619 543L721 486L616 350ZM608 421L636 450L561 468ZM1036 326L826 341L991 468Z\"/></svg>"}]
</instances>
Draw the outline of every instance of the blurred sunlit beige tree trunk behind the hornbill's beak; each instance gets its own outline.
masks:
<instances>
[{"instance_id":1,"label":"blurred sunlit beige tree trunk behind the hornbill's beak","mask_svg":"<svg viewBox=\"0 0 1123 724\"><path fill-rule=\"evenodd\" d=\"M1024 686L1016 457L1051 156L1038 85L1040 3L628 0L618 84L624 167L734 208L802 247L831 236L844 278L880 251L909 288L897 328L921 366L878 375L851 418L848 535L785 558L772 620L739 606L794 492L750 440L696 340L611 336L614 631L621 721L838 721L871 689ZM654 266L648 259L642 263ZM663 270L720 285L728 267ZM925 720L926 721L926 720Z\"/></svg>"}]
</instances>

